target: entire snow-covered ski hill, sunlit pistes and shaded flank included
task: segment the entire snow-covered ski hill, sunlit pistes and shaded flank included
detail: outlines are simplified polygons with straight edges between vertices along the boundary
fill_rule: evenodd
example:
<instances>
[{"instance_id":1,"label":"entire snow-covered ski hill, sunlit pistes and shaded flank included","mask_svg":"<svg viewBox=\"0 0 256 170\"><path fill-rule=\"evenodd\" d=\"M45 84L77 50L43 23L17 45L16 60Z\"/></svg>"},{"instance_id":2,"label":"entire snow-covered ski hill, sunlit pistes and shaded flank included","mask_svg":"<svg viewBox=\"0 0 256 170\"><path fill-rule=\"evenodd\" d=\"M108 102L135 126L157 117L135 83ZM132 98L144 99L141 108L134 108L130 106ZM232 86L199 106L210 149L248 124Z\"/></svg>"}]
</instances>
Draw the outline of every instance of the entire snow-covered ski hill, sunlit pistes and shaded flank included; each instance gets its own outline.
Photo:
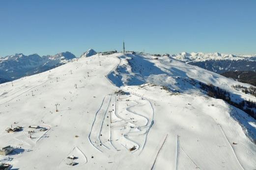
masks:
<instances>
[{"instance_id":1,"label":"entire snow-covered ski hill, sunlit pistes and shaded flank included","mask_svg":"<svg viewBox=\"0 0 256 170\"><path fill-rule=\"evenodd\" d=\"M185 79L256 100L230 87L249 85L153 58L96 54L1 84L0 148L14 151L0 163L16 170L256 169L255 120ZM126 94L116 95L120 89ZM11 126L24 128L5 132Z\"/></svg>"}]
</instances>

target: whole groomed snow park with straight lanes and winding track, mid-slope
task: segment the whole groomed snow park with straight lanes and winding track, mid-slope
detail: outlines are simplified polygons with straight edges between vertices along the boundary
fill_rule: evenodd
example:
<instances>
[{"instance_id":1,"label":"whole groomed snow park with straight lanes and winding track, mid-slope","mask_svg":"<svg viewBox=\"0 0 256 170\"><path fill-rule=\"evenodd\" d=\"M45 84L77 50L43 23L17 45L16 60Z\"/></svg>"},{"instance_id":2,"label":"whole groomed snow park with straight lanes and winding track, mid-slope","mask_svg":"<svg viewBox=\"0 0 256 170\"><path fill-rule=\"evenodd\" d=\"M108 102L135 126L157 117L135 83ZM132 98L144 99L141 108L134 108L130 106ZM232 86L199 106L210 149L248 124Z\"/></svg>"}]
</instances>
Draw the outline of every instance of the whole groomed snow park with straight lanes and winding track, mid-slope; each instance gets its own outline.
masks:
<instances>
[{"instance_id":1,"label":"whole groomed snow park with straight lanes and winding track, mid-slope","mask_svg":"<svg viewBox=\"0 0 256 170\"><path fill-rule=\"evenodd\" d=\"M124 109L120 110L120 107ZM123 147L129 150L133 146L136 146L133 153L138 150L142 152L153 122L153 109L149 113L148 109L143 109L148 107L151 107L148 100L133 95L119 98L118 101L112 95L104 97L89 133L91 145L100 152L109 153L112 148L116 151Z\"/></svg>"}]
</instances>

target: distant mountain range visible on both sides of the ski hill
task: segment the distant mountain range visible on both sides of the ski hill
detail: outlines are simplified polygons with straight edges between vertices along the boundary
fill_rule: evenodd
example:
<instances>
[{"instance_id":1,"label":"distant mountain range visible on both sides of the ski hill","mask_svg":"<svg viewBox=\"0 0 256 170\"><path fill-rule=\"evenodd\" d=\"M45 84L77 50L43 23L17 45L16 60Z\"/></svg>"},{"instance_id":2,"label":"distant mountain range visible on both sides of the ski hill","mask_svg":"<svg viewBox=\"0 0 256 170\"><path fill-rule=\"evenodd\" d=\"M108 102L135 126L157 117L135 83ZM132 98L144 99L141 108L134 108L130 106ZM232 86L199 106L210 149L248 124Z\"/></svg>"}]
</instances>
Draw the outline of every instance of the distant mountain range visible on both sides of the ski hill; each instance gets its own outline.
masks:
<instances>
[{"instance_id":1,"label":"distant mountain range visible on both sides of the ski hill","mask_svg":"<svg viewBox=\"0 0 256 170\"><path fill-rule=\"evenodd\" d=\"M95 54L97 54L95 50L89 49L80 57L89 57ZM172 54L170 57L219 74L234 71L256 71L256 55L181 52ZM0 83L44 72L66 64L75 58L76 56L68 51L46 56L39 56L38 54L27 56L20 53L1 57Z\"/></svg>"}]
</instances>

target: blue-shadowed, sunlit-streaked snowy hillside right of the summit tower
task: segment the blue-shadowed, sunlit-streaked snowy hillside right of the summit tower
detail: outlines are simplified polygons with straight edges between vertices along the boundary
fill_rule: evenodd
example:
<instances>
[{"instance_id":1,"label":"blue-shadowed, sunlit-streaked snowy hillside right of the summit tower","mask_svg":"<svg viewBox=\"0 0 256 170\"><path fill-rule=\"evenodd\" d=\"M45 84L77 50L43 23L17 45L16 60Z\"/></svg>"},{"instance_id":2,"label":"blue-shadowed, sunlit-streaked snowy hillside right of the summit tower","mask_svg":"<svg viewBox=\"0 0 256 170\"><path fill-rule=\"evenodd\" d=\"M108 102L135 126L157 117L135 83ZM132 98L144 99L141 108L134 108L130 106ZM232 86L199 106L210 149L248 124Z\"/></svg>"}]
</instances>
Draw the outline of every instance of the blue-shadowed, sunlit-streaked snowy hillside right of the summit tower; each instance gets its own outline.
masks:
<instances>
[{"instance_id":1,"label":"blue-shadowed, sunlit-streaked snowy hillside right of the summit tower","mask_svg":"<svg viewBox=\"0 0 256 170\"><path fill-rule=\"evenodd\" d=\"M183 93L191 93L191 90L196 88L195 92L199 93L197 87L188 88L182 85L181 82L184 79L193 78L206 84L211 83L228 91L233 91L230 86L232 84L243 84L197 66L180 62L172 57L165 56L155 60L155 57L150 55L127 54L119 58L120 64L117 69L109 74L109 78L117 86L154 83ZM244 86L249 87L248 84ZM241 97L244 96L240 92L234 91L234 93Z\"/></svg>"}]
</instances>

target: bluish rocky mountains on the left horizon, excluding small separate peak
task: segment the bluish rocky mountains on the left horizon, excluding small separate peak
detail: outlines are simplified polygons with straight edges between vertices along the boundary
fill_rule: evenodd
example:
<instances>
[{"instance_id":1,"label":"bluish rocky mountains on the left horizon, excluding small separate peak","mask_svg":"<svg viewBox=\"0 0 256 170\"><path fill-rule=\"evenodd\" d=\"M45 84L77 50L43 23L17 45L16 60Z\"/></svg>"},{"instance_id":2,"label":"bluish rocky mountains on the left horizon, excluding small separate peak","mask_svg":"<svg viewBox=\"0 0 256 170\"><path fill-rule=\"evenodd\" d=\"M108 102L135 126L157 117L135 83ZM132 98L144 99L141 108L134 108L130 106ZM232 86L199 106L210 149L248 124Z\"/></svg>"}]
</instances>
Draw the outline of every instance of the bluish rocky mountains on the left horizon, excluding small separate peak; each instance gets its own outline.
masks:
<instances>
[{"instance_id":1,"label":"bluish rocky mountains on the left horizon, excluding small separate peak","mask_svg":"<svg viewBox=\"0 0 256 170\"><path fill-rule=\"evenodd\" d=\"M61 52L56 55L39 56L22 53L0 58L0 78L15 80L23 76L41 73L67 63L76 58L71 52Z\"/></svg>"}]
</instances>

